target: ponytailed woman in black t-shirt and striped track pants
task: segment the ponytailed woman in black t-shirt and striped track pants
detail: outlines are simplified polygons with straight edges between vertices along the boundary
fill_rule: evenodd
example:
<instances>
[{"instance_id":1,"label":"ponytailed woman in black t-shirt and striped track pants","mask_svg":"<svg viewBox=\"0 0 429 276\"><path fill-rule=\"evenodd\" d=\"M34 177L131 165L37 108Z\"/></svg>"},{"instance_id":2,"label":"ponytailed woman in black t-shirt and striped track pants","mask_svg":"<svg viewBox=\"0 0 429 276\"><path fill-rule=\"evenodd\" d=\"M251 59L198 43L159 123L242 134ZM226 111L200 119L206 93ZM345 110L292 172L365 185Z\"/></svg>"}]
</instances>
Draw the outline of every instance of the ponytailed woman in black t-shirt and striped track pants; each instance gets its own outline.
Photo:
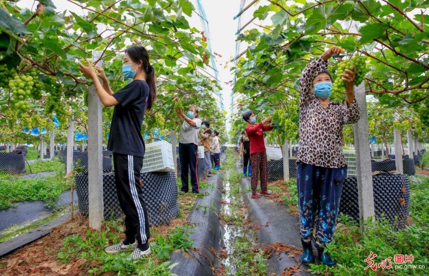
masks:
<instances>
[{"instance_id":1,"label":"ponytailed woman in black t-shirt and striped track pants","mask_svg":"<svg viewBox=\"0 0 429 276\"><path fill-rule=\"evenodd\" d=\"M80 70L92 79L103 105L114 106L107 149L113 152L116 191L125 213L126 239L106 247L105 251L114 254L135 248L127 260L139 259L151 253L148 212L142 195L140 171L145 155L141 124L146 109L150 110L156 99L154 68L144 47L127 49L122 72L125 78L133 81L113 93L103 69L96 66L97 74L88 60L87 63L88 66L81 63ZM103 80L103 85L98 77Z\"/></svg>"}]
</instances>

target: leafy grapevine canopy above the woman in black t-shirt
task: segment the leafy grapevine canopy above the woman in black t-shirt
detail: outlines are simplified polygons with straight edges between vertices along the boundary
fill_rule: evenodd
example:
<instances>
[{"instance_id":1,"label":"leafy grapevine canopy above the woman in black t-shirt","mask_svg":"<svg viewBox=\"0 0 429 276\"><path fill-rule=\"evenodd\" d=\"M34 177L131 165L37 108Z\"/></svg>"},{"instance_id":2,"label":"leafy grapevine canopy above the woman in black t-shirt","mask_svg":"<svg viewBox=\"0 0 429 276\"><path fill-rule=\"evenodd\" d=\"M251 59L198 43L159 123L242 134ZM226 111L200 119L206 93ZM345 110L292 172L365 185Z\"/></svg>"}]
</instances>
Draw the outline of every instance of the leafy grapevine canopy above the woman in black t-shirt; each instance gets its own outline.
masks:
<instances>
[{"instance_id":1,"label":"leafy grapevine canopy above the woman in black t-shirt","mask_svg":"<svg viewBox=\"0 0 429 276\"><path fill-rule=\"evenodd\" d=\"M64 124L71 110L85 106L84 91L91 84L78 62L93 56L94 63L102 60L117 90L125 85L119 73L130 45L149 50L158 77L159 97L148 118L161 113L172 127L176 96L185 105L200 107L207 117L220 114L211 94L219 84L205 70L207 42L200 30L189 26L194 7L188 0L66 2L82 12L66 11L51 0L35 1L32 9L0 1L0 123L6 125L4 111L14 109L50 118L55 112ZM10 84L14 76L19 80ZM151 123L155 120L149 119Z\"/></svg>"}]
</instances>

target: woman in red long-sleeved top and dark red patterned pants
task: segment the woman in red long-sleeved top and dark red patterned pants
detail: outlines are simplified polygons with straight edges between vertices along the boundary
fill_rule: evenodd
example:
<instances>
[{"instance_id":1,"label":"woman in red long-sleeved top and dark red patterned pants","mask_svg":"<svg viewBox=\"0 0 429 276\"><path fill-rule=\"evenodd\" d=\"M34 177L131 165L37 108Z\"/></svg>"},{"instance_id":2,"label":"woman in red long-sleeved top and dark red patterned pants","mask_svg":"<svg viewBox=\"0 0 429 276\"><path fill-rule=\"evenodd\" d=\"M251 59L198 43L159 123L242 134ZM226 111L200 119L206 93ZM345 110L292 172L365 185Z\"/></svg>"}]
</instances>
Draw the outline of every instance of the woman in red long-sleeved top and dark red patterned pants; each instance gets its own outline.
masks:
<instances>
[{"instance_id":1,"label":"woman in red long-sleeved top and dark red patterned pants","mask_svg":"<svg viewBox=\"0 0 429 276\"><path fill-rule=\"evenodd\" d=\"M271 117L264 119L260 123L256 123L256 117L252 110L247 110L243 113L243 119L248 123L245 131L250 141L250 163L252 164L252 178L250 180L252 187L252 198L259 198L260 194L256 192L258 186L258 174L260 174L260 193L263 195L271 195L272 192L267 190L267 150L264 143L264 132L273 129Z\"/></svg>"}]
</instances>

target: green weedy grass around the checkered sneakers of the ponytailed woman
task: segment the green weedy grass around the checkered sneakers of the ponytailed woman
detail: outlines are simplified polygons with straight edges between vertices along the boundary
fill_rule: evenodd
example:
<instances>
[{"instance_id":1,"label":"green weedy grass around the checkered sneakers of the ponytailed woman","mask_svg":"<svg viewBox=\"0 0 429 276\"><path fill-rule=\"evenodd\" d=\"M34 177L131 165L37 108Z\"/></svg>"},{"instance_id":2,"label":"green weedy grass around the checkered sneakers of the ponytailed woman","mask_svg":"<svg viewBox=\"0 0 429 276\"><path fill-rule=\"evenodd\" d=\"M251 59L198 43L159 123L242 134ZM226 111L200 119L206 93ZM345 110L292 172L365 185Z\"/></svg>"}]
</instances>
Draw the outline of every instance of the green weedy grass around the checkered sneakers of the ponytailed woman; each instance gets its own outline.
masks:
<instances>
[{"instance_id":1,"label":"green weedy grass around the checkered sneakers of the ponytailed woman","mask_svg":"<svg viewBox=\"0 0 429 276\"><path fill-rule=\"evenodd\" d=\"M153 254L135 262L126 261L131 252L120 254L106 254L104 248L120 241L118 233L123 232L122 221L108 221L103 231L87 230L85 235L71 235L63 241L57 257L63 263L70 259L86 259L86 269L90 275L117 274L117 275L174 275L171 269L177 265L171 264L168 259L174 250L189 251L194 242L189 238L192 226L177 226L173 232L164 236L155 237L151 242ZM96 265L93 265L96 264Z\"/></svg>"}]
</instances>

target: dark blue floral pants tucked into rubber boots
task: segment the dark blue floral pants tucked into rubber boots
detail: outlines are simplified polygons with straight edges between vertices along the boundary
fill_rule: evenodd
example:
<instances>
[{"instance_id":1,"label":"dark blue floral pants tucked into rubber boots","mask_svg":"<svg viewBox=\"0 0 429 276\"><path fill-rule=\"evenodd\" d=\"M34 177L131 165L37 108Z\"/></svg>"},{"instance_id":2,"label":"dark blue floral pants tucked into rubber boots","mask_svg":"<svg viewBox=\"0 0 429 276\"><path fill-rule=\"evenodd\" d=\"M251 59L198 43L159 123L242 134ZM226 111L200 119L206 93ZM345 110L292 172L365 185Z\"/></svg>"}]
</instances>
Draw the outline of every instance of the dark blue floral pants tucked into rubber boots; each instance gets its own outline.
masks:
<instances>
[{"instance_id":1,"label":"dark blue floral pants tucked into rubber boots","mask_svg":"<svg viewBox=\"0 0 429 276\"><path fill-rule=\"evenodd\" d=\"M301 241L315 238L317 248L332 240L340 210L347 167L324 168L298 163L298 207Z\"/></svg>"}]
</instances>

